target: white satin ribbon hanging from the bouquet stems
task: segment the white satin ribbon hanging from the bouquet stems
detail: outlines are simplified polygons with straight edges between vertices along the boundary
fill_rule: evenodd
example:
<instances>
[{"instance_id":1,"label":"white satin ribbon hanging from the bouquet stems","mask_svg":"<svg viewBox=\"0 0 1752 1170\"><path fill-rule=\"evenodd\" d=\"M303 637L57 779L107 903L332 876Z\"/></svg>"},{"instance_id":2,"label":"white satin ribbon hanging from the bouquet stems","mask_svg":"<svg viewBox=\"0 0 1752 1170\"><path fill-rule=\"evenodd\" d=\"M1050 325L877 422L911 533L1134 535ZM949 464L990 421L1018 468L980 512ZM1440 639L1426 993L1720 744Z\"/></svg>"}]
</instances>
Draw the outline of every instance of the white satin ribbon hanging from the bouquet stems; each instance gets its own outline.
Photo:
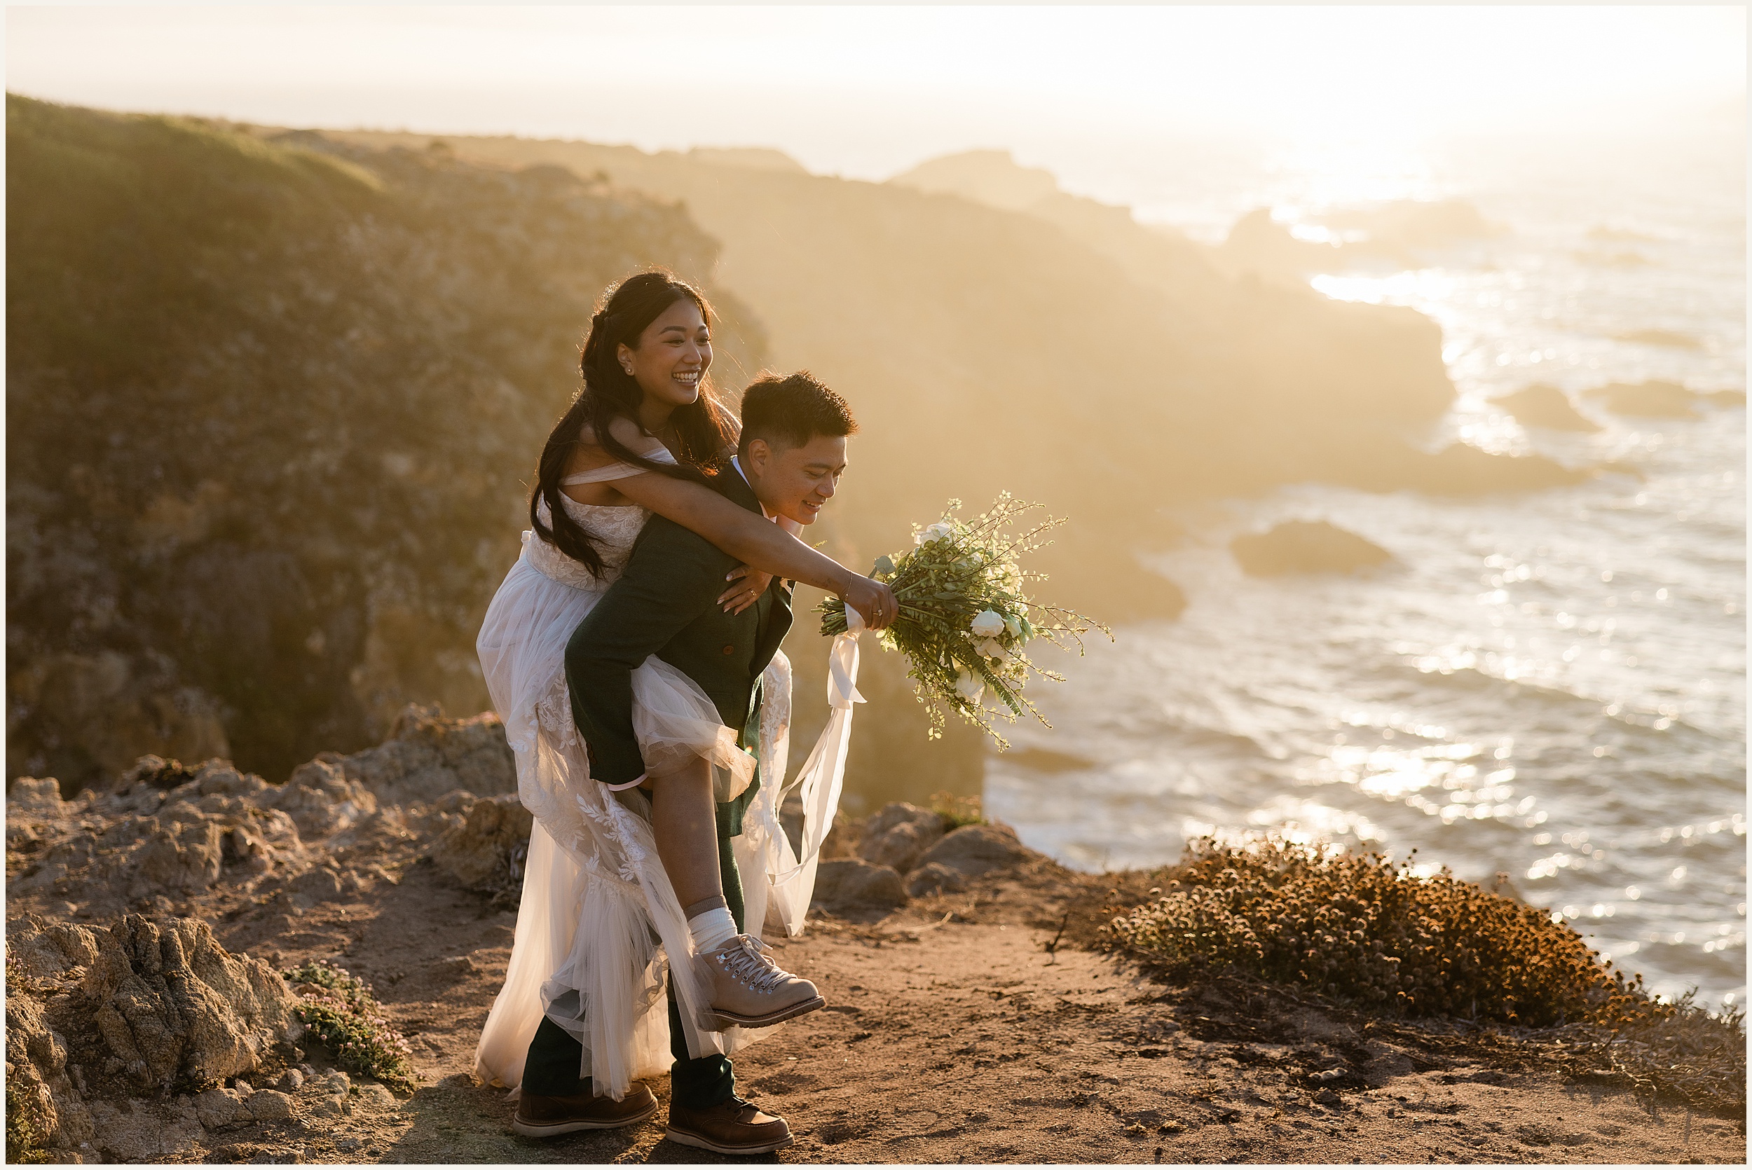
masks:
<instances>
[{"instance_id":1,"label":"white satin ribbon hanging from the bouquet stems","mask_svg":"<svg viewBox=\"0 0 1752 1170\"><path fill-rule=\"evenodd\" d=\"M771 883L773 906L785 934L797 937L802 934L802 920L809 913L809 899L815 893L815 870L822 856L822 842L834 827L834 813L839 809L839 793L846 779L846 750L851 746L853 704L864 702L858 694L858 634L864 632L864 618L851 606L846 606L846 632L834 638L827 652L827 727L809 750L809 758L802 762L797 779L787 785L801 790L802 797L802 856L790 848L790 839L778 823L778 809L783 793L774 793L771 804L762 802L762 813L769 820L766 825L769 837L767 879Z\"/></svg>"}]
</instances>

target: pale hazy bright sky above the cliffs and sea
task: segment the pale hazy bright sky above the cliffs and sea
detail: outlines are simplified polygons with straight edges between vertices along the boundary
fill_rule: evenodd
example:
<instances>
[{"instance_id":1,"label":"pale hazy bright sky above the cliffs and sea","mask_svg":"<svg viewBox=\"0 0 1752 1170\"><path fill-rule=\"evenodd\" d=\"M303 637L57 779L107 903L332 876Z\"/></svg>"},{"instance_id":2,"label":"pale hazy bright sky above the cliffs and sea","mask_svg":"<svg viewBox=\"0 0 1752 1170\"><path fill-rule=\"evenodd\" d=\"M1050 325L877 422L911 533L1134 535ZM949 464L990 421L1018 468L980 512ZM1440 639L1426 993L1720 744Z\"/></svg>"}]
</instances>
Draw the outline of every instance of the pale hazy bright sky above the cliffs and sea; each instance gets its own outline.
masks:
<instances>
[{"instance_id":1,"label":"pale hazy bright sky above the cliffs and sea","mask_svg":"<svg viewBox=\"0 0 1752 1170\"><path fill-rule=\"evenodd\" d=\"M7 89L293 126L778 145L880 179L1046 137L1405 140L1743 100L1740 7L7 9Z\"/></svg>"}]
</instances>

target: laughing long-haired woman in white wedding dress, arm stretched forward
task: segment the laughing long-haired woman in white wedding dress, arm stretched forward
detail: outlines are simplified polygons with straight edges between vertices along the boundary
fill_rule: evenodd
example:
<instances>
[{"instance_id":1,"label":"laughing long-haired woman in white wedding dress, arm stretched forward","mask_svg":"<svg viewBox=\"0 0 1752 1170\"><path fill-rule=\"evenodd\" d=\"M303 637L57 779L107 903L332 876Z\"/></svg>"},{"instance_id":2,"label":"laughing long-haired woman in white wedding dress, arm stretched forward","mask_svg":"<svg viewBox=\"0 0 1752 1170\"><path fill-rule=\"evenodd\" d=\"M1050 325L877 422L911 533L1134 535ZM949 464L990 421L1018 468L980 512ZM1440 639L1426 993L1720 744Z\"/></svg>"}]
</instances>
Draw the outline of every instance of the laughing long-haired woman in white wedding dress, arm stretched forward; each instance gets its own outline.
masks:
<instances>
[{"instance_id":1,"label":"laughing long-haired woman in white wedding dress, arm stretched forward","mask_svg":"<svg viewBox=\"0 0 1752 1170\"><path fill-rule=\"evenodd\" d=\"M477 1072L489 1084L517 1088L531 1039L538 1030L555 1035L564 1028L583 1047L582 1067L564 1072L575 1088L582 1086L580 1096L596 1098L594 1107L576 1107L576 1119L538 1119L529 1126L520 1110L520 1131L638 1121L655 1110L655 1100L634 1084L636 1077L666 1070L671 1053L680 1070L689 1056L694 1060L687 1063L697 1065L699 1058L753 1039L746 1028L687 1028L687 1044L666 1035L673 1023L653 1011L664 995L664 970L652 941L687 939L690 923L669 921L675 897L652 893L669 890L669 881L645 820L646 806L590 779L589 750L573 725L566 643L615 581L646 517L661 513L745 562L720 597L731 613L755 604L771 578L783 576L841 596L871 629L895 617L885 585L811 550L797 539L795 522L769 522L708 487L738 436L734 417L706 380L710 328L706 300L662 271L629 277L608 294L583 347L583 389L541 452L522 555L499 585L477 641L487 690L517 757L519 797L536 820L512 960L480 1037ZM655 702L650 695L657 685L652 676L643 690L636 688L641 702ZM790 708L790 673L781 653L767 667L764 694L759 760L762 771L780 774L759 786L755 800L773 802L783 781ZM669 699L685 706L680 695ZM699 755L710 751L699 746ZM745 825L736 839L738 860L767 872L781 855L792 860L788 842L760 828L776 825L771 816ZM708 856L715 853L713 842ZM760 907L755 900L748 906L748 934L759 932L764 914L764 899ZM685 998L692 998L689 983L678 979ZM722 1065L727 1077L729 1065ZM753 1131L773 1121L752 1112L738 1128L755 1123L748 1126Z\"/></svg>"}]
</instances>

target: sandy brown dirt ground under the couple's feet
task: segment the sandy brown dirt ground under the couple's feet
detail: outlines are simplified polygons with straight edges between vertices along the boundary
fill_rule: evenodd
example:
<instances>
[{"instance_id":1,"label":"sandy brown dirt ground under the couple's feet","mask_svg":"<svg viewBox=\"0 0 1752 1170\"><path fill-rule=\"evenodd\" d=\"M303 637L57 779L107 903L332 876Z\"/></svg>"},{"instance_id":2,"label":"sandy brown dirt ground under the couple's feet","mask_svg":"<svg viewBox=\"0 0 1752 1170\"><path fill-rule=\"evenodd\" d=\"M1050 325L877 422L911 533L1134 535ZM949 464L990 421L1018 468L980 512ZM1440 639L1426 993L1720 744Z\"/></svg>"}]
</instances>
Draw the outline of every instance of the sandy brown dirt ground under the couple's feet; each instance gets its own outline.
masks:
<instances>
[{"instance_id":1,"label":"sandy brown dirt ground under the couple's feet","mask_svg":"<svg viewBox=\"0 0 1752 1170\"><path fill-rule=\"evenodd\" d=\"M338 953L413 1039L426 1088L396 1102L356 1091L340 1117L315 1116L301 1093L293 1121L249 1126L205 1159L736 1161L662 1140L662 1112L618 1131L515 1137L506 1095L468 1075L515 920L427 869L373 904L228 932L280 962ZM1382 1039L1310 1009L1200 998L1069 946L1049 955L1041 923L1058 906L1039 876L986 881L781 942L780 962L829 1007L738 1056L743 1091L797 1138L757 1161L1745 1161L1731 1119L1526 1061L1444 1056L1403 1030ZM1277 1014L1249 1018L1265 1011ZM652 1088L668 1105L668 1084Z\"/></svg>"}]
</instances>

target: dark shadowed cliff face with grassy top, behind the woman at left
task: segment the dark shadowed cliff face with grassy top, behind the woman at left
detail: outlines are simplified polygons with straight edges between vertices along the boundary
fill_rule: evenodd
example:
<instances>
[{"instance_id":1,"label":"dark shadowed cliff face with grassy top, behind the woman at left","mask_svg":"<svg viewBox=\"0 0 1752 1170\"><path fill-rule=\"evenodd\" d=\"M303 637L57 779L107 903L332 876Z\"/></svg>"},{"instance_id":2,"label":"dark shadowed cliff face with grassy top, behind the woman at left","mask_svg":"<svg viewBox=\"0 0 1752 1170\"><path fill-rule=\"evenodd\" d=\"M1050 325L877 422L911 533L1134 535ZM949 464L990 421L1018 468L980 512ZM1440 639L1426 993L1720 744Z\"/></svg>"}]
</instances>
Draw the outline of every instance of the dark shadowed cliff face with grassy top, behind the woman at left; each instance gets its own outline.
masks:
<instances>
[{"instance_id":1,"label":"dark shadowed cliff face with grassy top, behind the woman at left","mask_svg":"<svg viewBox=\"0 0 1752 1170\"><path fill-rule=\"evenodd\" d=\"M321 149L315 149L321 147ZM7 98L7 769L272 778L473 641L611 280L682 210L557 166ZM727 368L760 338L734 296Z\"/></svg>"}]
</instances>

